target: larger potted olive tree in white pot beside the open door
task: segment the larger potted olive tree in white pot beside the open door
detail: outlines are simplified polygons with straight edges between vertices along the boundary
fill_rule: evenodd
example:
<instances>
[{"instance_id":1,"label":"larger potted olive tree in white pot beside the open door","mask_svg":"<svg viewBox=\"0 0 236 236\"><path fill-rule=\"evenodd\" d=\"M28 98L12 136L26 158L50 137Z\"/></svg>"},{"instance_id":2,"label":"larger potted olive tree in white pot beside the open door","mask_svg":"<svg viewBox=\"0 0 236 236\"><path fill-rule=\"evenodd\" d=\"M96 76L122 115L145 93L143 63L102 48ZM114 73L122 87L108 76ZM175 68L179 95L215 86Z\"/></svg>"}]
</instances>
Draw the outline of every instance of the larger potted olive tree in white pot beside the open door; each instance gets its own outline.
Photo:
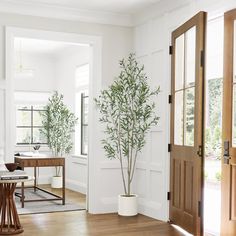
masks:
<instances>
[{"instance_id":1,"label":"larger potted olive tree in white pot beside the open door","mask_svg":"<svg viewBox=\"0 0 236 236\"><path fill-rule=\"evenodd\" d=\"M159 88L151 90L134 54L120 61L121 72L113 84L95 99L104 124L102 140L109 159L120 162L124 194L118 197L118 214L137 214L137 195L131 191L138 153L145 145L145 137L151 126L158 123L154 98Z\"/></svg>"}]
</instances>

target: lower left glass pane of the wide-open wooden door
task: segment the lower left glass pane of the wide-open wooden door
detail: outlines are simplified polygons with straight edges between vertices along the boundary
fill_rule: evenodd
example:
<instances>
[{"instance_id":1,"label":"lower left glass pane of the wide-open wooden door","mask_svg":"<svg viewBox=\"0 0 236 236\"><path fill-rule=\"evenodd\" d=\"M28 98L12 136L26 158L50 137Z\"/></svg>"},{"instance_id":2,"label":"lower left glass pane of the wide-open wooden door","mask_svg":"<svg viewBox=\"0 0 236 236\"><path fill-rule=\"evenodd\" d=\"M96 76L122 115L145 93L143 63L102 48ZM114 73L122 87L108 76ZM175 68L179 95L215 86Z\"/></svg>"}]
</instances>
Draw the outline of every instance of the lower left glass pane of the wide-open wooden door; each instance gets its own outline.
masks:
<instances>
[{"instance_id":1,"label":"lower left glass pane of the wide-open wooden door","mask_svg":"<svg viewBox=\"0 0 236 236\"><path fill-rule=\"evenodd\" d=\"M183 145L183 91L175 93L174 142Z\"/></svg>"}]
</instances>

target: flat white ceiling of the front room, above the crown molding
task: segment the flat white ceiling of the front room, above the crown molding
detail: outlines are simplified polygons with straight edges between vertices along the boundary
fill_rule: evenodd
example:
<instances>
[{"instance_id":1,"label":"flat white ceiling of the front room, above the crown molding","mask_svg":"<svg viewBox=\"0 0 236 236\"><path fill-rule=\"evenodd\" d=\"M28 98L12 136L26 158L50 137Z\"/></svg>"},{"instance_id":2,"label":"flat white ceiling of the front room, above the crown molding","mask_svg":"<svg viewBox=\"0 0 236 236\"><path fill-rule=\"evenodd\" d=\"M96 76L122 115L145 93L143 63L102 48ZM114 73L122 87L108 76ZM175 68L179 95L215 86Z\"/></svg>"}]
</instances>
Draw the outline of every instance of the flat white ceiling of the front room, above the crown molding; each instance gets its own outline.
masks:
<instances>
[{"instance_id":1,"label":"flat white ceiling of the front room, above the crown molding","mask_svg":"<svg viewBox=\"0 0 236 236\"><path fill-rule=\"evenodd\" d=\"M160 1L161 0L24 0L25 3L122 14L134 14Z\"/></svg>"}]
</instances>

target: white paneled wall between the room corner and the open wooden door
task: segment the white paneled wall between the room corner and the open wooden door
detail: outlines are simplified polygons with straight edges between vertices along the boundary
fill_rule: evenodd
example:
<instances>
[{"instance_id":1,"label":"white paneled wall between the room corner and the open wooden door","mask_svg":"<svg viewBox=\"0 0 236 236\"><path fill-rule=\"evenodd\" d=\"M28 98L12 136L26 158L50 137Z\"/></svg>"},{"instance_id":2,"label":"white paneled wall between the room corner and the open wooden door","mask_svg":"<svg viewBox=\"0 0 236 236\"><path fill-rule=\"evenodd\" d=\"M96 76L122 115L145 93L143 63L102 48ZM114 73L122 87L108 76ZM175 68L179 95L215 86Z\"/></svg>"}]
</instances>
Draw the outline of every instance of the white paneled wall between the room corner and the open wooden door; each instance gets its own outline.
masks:
<instances>
[{"instance_id":1,"label":"white paneled wall between the room corner and the open wooden door","mask_svg":"<svg viewBox=\"0 0 236 236\"><path fill-rule=\"evenodd\" d=\"M173 1L172 1L173 2ZM234 0L207 1L161 1L135 16L134 45L141 63L145 65L152 85L160 85L161 94L157 101L161 121L152 130L147 145L137 163L136 192L140 196L140 212L161 220L168 220L169 189L169 117L170 107L170 57L168 47L171 32L198 11L209 12L209 18L223 15L224 11L236 8ZM160 7L161 6L161 7ZM158 7L158 8L157 8Z\"/></svg>"}]
</instances>

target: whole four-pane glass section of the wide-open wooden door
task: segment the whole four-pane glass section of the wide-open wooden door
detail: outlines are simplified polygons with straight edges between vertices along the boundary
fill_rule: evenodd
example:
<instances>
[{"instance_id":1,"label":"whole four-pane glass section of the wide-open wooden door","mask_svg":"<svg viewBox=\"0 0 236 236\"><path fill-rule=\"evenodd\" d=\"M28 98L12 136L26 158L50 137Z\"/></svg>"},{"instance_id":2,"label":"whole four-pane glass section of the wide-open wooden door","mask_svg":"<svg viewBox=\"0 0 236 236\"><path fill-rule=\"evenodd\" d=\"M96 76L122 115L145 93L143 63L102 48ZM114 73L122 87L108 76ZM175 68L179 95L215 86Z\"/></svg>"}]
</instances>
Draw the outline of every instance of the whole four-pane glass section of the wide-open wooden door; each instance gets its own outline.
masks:
<instances>
[{"instance_id":1,"label":"whole four-pane glass section of the wide-open wooden door","mask_svg":"<svg viewBox=\"0 0 236 236\"><path fill-rule=\"evenodd\" d=\"M193 50L195 49L195 50ZM196 27L175 41L174 144L194 146Z\"/></svg>"}]
</instances>

